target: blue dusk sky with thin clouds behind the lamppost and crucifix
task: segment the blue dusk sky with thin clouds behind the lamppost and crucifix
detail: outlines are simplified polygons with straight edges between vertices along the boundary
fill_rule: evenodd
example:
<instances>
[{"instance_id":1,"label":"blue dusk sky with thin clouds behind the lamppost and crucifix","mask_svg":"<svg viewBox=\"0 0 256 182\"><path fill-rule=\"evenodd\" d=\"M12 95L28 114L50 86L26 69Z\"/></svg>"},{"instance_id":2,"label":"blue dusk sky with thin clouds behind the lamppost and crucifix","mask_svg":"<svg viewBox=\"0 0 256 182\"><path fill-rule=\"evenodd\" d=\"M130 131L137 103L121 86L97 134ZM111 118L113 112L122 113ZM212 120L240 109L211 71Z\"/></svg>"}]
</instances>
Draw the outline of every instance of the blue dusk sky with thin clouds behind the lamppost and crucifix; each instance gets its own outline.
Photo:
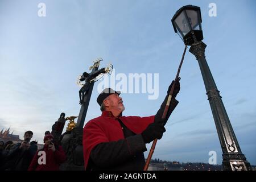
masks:
<instances>
[{"instance_id":1,"label":"blue dusk sky with thin clouds behind the lamppost and crucifix","mask_svg":"<svg viewBox=\"0 0 256 182\"><path fill-rule=\"evenodd\" d=\"M40 3L46 5L46 16L38 15ZM216 16L209 16L210 3L216 4ZM201 7L209 68L241 150L255 165L253 0L0 0L0 129L11 127L20 138L32 130L33 139L43 143L44 132L51 130L60 113L79 114L76 79L89 72L98 57L104 59L100 68L114 65L113 77L158 74L156 99L149 100L148 92L121 94L123 115L154 115L183 53L184 43L175 34L171 18L184 5ZM180 77L179 105L152 158L208 163L209 151L216 151L221 164L222 151L199 64L188 51ZM102 80L94 84L85 123L101 114L96 98Z\"/></svg>"}]
</instances>

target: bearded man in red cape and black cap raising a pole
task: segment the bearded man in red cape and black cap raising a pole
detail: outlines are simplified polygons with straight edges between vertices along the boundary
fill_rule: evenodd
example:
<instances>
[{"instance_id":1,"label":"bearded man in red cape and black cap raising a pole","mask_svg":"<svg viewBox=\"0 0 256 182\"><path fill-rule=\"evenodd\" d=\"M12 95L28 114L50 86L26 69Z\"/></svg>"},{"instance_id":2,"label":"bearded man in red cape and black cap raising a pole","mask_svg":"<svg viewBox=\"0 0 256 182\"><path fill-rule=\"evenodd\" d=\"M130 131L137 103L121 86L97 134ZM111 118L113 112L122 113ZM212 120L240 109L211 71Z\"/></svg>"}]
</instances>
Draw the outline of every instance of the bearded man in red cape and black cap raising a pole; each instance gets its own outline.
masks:
<instances>
[{"instance_id":1,"label":"bearded man in red cape and black cap raising a pole","mask_svg":"<svg viewBox=\"0 0 256 182\"><path fill-rule=\"evenodd\" d=\"M90 120L84 127L82 144L85 169L142 170L145 165L143 152L147 150L146 143L162 138L166 131L164 125L178 104L175 97L179 90L180 83L177 82L166 119L162 119L168 94L155 115L125 117L122 116L125 107L119 97L120 92L111 88L104 89L97 98L101 116Z\"/></svg>"}]
</instances>

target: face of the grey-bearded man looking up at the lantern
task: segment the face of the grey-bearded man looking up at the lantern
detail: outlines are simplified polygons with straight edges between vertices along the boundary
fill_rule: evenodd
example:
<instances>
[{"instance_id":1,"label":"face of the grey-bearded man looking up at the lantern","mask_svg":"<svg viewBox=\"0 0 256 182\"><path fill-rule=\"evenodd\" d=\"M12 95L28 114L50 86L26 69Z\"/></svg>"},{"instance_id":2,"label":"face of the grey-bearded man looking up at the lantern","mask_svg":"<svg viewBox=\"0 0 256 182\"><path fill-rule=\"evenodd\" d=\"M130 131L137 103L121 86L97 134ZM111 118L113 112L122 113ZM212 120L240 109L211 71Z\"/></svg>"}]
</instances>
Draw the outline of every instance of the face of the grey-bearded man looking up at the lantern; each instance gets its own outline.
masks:
<instances>
[{"instance_id":1,"label":"face of the grey-bearded man looking up at the lantern","mask_svg":"<svg viewBox=\"0 0 256 182\"><path fill-rule=\"evenodd\" d=\"M108 107L110 111L116 110L122 112L123 110L125 110L122 97L119 97L117 93L111 94L109 97L107 97L104 104L106 107Z\"/></svg>"}]
</instances>

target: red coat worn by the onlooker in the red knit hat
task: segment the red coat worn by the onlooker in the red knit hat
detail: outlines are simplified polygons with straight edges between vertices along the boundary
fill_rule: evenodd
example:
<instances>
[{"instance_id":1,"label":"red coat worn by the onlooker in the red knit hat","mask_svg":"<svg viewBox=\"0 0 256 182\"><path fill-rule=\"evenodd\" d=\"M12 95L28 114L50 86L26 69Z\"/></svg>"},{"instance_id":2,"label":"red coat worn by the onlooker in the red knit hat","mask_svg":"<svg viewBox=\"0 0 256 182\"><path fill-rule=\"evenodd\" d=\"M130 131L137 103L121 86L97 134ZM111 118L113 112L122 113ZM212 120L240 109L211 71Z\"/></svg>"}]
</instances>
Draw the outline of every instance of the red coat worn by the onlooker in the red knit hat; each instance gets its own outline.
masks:
<instances>
[{"instance_id":1,"label":"red coat worn by the onlooker in the red knit hat","mask_svg":"<svg viewBox=\"0 0 256 182\"><path fill-rule=\"evenodd\" d=\"M46 164L38 164L39 151L34 155L28 171L59 171L60 164L66 160L65 152L61 146L53 152L44 145L43 151L46 152Z\"/></svg>"}]
</instances>

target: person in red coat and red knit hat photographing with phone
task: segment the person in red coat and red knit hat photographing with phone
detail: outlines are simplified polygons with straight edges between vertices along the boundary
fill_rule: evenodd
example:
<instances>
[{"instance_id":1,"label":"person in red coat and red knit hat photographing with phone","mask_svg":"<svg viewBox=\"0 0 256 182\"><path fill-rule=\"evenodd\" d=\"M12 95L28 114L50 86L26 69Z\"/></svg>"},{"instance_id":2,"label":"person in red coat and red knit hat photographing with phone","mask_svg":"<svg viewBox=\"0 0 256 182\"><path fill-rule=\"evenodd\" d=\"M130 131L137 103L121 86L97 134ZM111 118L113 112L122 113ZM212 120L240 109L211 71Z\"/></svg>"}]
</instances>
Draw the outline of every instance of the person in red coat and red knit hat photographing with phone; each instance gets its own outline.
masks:
<instances>
[{"instance_id":1,"label":"person in red coat and red knit hat photographing with phone","mask_svg":"<svg viewBox=\"0 0 256 182\"><path fill-rule=\"evenodd\" d=\"M53 136L46 131L44 147L36 152L28 171L59 171L60 164L65 162L66 155L61 146L53 143Z\"/></svg>"}]
</instances>

